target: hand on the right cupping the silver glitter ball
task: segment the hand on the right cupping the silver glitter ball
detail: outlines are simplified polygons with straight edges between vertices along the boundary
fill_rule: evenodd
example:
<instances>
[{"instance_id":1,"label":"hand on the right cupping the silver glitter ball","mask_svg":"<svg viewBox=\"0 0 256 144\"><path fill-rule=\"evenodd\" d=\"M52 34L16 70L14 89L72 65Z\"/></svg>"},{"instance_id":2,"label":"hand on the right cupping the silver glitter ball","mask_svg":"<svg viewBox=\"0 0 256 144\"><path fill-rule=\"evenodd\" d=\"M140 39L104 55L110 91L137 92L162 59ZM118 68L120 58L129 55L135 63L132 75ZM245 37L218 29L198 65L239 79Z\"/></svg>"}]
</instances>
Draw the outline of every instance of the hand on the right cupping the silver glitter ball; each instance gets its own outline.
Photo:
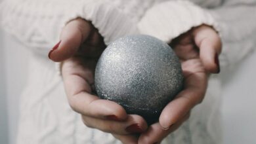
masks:
<instances>
[{"instance_id":1,"label":"hand on the right cupping the silver glitter ball","mask_svg":"<svg viewBox=\"0 0 256 144\"><path fill-rule=\"evenodd\" d=\"M162 111L160 121L149 126L139 143L160 143L179 128L190 110L201 103L207 88L207 73L219 73L221 39L209 26L199 26L174 39L172 48L182 63L184 90Z\"/></svg>"}]
</instances>

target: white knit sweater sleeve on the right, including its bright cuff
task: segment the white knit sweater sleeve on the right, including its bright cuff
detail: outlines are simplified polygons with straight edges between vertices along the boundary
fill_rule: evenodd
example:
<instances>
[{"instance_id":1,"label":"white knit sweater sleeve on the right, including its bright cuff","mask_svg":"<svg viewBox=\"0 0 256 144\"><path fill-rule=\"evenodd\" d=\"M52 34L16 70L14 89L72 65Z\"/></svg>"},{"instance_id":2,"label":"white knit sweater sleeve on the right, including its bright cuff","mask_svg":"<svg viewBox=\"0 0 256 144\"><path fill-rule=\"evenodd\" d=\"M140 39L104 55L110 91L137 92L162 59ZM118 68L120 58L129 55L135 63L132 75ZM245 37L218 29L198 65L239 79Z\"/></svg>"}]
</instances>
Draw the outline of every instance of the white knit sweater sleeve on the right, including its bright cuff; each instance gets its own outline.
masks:
<instances>
[{"instance_id":1,"label":"white knit sweater sleeve on the right, including its bright cuff","mask_svg":"<svg viewBox=\"0 0 256 144\"><path fill-rule=\"evenodd\" d=\"M169 43L192 27L207 24L221 35L221 66L242 60L256 44L256 1L226 0L211 9L190 1L165 1L149 9L140 20L139 31Z\"/></svg>"}]
</instances>

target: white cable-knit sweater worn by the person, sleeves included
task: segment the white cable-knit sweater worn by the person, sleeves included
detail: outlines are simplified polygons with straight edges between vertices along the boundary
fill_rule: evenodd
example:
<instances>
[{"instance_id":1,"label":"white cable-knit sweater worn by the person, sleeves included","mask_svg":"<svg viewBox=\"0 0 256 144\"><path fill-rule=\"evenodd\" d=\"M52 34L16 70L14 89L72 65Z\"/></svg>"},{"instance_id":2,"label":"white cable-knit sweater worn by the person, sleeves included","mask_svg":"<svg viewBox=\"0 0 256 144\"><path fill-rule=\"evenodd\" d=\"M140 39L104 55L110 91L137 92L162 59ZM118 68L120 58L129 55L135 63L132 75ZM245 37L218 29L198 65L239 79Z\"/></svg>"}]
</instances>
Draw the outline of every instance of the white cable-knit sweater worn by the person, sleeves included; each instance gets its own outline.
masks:
<instances>
[{"instance_id":1,"label":"white cable-knit sweater worn by the person, sleeves included","mask_svg":"<svg viewBox=\"0 0 256 144\"><path fill-rule=\"evenodd\" d=\"M89 20L106 44L143 33L170 42L192 27L215 27L223 39L221 65L244 58L256 44L256 0L6 0L1 26L31 48L30 79L22 94L18 143L119 143L86 128L70 109L61 78L47 59L62 27L73 18ZM202 104L163 143L221 143L220 84L213 76Z\"/></svg>"}]
</instances>

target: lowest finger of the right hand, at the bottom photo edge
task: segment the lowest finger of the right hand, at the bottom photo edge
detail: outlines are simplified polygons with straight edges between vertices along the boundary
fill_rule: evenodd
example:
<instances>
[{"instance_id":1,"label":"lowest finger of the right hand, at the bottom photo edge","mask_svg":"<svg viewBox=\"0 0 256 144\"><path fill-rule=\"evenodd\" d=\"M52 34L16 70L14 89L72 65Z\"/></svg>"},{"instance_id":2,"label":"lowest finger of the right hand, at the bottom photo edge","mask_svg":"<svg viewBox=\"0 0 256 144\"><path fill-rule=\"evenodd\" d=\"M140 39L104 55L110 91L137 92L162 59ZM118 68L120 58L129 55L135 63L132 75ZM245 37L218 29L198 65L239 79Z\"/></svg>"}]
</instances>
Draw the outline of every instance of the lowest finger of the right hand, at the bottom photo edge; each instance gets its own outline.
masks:
<instances>
[{"instance_id":1,"label":"lowest finger of the right hand, at the bottom photo edge","mask_svg":"<svg viewBox=\"0 0 256 144\"><path fill-rule=\"evenodd\" d=\"M163 130L160 123L152 124L148 130L139 137L139 144L143 143L161 143L171 132L177 130L181 124L189 118L189 113L173 124L168 130Z\"/></svg>"}]
</instances>

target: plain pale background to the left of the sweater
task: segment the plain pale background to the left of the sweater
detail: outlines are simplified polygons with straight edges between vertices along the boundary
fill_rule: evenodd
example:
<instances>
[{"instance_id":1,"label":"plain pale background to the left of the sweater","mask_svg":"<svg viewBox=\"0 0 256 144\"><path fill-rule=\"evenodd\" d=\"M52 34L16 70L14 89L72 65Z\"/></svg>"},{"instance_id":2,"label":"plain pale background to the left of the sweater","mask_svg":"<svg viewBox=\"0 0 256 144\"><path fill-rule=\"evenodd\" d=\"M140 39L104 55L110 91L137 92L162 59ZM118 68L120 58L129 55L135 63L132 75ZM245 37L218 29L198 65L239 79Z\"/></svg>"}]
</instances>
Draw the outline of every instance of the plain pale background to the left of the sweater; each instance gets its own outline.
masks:
<instances>
[{"instance_id":1,"label":"plain pale background to the left of the sweater","mask_svg":"<svg viewBox=\"0 0 256 144\"><path fill-rule=\"evenodd\" d=\"M0 143L15 143L18 128L19 99L26 84L29 51L9 35L0 36ZM3 89L3 90L2 90ZM3 107L3 108L2 108Z\"/></svg>"}]
</instances>

